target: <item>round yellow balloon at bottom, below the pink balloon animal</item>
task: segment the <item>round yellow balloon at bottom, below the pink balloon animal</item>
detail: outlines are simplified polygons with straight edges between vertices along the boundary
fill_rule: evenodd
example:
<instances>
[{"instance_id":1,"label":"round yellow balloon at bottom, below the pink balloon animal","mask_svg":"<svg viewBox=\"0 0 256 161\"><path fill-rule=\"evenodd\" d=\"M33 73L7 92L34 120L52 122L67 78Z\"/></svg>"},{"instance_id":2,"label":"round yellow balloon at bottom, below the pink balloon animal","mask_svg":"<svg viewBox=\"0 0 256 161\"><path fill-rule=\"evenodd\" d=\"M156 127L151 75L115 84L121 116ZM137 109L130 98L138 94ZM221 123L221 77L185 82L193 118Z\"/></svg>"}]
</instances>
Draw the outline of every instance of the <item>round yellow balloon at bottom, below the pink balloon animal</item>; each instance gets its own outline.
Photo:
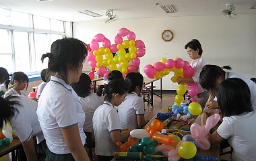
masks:
<instances>
[{"instance_id":1,"label":"round yellow balloon at bottom, below the pink balloon animal","mask_svg":"<svg viewBox=\"0 0 256 161\"><path fill-rule=\"evenodd\" d=\"M181 158L190 159L197 153L197 148L192 142L183 142L178 148L178 153Z\"/></svg>"}]
</instances>

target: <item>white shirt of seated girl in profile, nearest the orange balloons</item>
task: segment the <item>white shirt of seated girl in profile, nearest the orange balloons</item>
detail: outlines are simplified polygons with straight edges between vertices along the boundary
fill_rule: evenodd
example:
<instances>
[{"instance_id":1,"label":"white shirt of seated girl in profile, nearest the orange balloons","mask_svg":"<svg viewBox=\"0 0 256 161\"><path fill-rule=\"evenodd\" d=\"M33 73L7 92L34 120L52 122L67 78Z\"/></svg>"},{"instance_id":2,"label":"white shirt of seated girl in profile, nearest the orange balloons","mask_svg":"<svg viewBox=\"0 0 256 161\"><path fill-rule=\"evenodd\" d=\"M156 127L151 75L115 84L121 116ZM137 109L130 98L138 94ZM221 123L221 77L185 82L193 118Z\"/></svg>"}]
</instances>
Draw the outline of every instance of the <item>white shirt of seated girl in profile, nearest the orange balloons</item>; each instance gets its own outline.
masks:
<instances>
[{"instance_id":1,"label":"white shirt of seated girl in profile, nearest the orange balloons","mask_svg":"<svg viewBox=\"0 0 256 161\"><path fill-rule=\"evenodd\" d=\"M109 102L98 107L92 117L95 136L95 154L100 156L114 156L119 148L112 142L110 133L121 130L117 110Z\"/></svg>"}]
</instances>

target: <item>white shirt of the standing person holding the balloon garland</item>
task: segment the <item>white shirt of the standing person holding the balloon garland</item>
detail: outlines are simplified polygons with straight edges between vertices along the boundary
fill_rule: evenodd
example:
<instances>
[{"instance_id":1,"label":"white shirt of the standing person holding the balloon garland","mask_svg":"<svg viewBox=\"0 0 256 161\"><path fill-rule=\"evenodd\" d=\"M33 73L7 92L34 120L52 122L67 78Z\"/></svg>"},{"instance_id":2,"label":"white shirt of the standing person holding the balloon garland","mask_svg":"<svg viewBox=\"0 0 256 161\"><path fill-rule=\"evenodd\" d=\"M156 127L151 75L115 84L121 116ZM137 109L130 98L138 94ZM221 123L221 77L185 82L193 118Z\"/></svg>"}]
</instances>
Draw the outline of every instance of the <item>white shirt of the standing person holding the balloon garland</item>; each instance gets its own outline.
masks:
<instances>
[{"instance_id":1,"label":"white shirt of the standing person holding the balloon garland","mask_svg":"<svg viewBox=\"0 0 256 161\"><path fill-rule=\"evenodd\" d=\"M207 62L206 62L205 58L203 58L203 57L200 57L196 60L192 60L192 62L190 63L190 65L194 69L194 76L192 76L192 78L195 82L195 85L197 86L198 93L202 93L205 91L199 83L199 75L200 75L200 72L201 72L203 66L205 66L206 64L207 64Z\"/></svg>"}]
</instances>

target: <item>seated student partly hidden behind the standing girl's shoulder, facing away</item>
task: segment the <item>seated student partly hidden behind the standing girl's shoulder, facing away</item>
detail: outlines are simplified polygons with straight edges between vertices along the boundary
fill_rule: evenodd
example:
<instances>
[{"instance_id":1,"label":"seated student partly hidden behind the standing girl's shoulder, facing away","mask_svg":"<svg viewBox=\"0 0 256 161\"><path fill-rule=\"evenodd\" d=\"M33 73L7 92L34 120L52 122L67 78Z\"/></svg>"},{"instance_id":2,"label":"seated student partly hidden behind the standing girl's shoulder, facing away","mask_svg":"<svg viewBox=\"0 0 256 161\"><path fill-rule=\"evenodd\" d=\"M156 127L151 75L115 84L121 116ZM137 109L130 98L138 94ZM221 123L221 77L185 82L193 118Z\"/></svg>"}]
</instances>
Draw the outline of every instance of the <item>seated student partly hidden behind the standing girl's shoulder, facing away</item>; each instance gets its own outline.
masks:
<instances>
[{"instance_id":1,"label":"seated student partly hidden behind the standing girl's shoulder, facing away","mask_svg":"<svg viewBox=\"0 0 256 161\"><path fill-rule=\"evenodd\" d=\"M92 117L94 111L102 105L103 97L98 97L96 93L91 93L92 80L88 74L82 73L79 81L73 83L72 87L79 96L82 103L84 113L86 113L86 121L84 122L83 129L86 133L86 144L92 158L92 148L95 148L95 142L92 140Z\"/></svg>"}]
</instances>

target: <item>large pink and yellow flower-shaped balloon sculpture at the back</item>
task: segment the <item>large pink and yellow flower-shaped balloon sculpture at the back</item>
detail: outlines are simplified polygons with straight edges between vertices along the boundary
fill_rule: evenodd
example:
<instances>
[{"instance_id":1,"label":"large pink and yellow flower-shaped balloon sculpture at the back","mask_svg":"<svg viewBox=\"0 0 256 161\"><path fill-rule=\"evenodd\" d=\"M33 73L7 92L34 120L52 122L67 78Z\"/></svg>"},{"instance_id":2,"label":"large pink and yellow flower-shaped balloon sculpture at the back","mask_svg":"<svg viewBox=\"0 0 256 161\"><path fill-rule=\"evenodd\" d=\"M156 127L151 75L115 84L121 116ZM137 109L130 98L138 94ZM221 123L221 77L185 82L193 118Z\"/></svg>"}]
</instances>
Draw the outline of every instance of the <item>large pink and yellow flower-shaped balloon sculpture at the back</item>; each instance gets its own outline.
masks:
<instances>
[{"instance_id":1,"label":"large pink and yellow flower-shaped balloon sculpture at the back","mask_svg":"<svg viewBox=\"0 0 256 161\"><path fill-rule=\"evenodd\" d=\"M123 40L123 37L127 40ZM115 36L115 44L103 34L96 34L88 52L88 63L92 70L96 70L100 76L107 77L113 70L119 70L123 74L134 72L139 67L142 56L146 54L145 44L141 40L135 40L134 32L121 28ZM102 42L100 47L99 42Z\"/></svg>"}]
</instances>

